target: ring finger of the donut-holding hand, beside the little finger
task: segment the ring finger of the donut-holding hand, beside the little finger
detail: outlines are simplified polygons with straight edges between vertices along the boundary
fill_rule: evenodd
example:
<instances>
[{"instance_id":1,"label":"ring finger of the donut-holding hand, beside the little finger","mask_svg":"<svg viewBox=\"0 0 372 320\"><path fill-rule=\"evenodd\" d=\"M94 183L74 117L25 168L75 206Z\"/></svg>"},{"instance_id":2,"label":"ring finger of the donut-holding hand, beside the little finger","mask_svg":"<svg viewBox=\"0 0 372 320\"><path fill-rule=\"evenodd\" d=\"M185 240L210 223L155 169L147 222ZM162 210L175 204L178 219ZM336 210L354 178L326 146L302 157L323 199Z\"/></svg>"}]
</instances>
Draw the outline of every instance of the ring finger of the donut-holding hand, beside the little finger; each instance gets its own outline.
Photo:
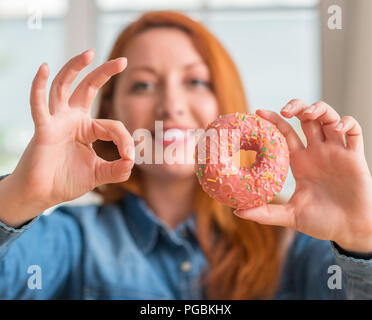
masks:
<instances>
[{"instance_id":1,"label":"ring finger of the donut-holding hand, beside the little finger","mask_svg":"<svg viewBox=\"0 0 372 320\"><path fill-rule=\"evenodd\" d=\"M334 130L340 121L340 115L330 105L323 101L316 102L304 111L303 116L321 123L326 141L344 145L343 135Z\"/></svg>"}]
</instances>

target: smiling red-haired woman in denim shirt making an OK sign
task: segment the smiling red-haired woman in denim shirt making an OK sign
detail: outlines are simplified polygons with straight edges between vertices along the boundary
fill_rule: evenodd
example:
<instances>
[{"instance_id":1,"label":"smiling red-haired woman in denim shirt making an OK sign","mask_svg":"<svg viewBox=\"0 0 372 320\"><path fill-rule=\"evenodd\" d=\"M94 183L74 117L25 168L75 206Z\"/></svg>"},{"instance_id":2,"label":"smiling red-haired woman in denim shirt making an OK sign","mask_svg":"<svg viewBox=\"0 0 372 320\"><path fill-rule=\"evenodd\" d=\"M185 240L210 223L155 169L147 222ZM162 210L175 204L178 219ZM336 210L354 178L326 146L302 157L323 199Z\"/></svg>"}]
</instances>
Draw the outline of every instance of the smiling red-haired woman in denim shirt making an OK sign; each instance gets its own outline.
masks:
<instances>
[{"instance_id":1,"label":"smiling red-haired woman in denim shirt making an OK sign","mask_svg":"<svg viewBox=\"0 0 372 320\"><path fill-rule=\"evenodd\" d=\"M61 69L49 107L46 64L33 81L35 134L0 182L2 298L372 297L371 177L353 118L340 118L324 102L292 100L281 113L300 119L305 147L278 114L257 111L287 139L296 190L286 204L234 215L201 191L192 164L134 165L138 128L153 132L163 121L164 133L184 132L205 128L218 114L247 111L221 44L182 14L147 13L70 95L93 56L85 51ZM103 205L61 206L41 216L92 189ZM336 264L341 289L329 281ZM30 284L32 270L42 285L34 278Z\"/></svg>"}]
</instances>

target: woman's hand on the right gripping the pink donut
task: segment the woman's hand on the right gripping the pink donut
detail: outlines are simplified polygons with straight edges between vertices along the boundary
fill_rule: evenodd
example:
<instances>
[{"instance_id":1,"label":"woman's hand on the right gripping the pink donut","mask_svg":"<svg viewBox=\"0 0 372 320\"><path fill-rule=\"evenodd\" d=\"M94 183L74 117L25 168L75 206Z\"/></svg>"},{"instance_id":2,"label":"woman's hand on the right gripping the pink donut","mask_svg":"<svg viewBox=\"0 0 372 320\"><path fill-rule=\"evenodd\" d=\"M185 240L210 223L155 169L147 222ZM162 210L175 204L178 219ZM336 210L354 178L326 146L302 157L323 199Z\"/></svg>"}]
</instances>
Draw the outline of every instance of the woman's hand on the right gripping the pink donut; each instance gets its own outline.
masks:
<instances>
[{"instance_id":1,"label":"woman's hand on the right gripping the pink donut","mask_svg":"<svg viewBox=\"0 0 372 320\"><path fill-rule=\"evenodd\" d=\"M301 121L306 147L277 113L257 111L286 137L295 192L287 204L236 210L235 214L333 240L345 250L372 252L372 179L360 125L350 116L340 119L324 102L309 106L292 100L281 113Z\"/></svg>"}]
</instances>

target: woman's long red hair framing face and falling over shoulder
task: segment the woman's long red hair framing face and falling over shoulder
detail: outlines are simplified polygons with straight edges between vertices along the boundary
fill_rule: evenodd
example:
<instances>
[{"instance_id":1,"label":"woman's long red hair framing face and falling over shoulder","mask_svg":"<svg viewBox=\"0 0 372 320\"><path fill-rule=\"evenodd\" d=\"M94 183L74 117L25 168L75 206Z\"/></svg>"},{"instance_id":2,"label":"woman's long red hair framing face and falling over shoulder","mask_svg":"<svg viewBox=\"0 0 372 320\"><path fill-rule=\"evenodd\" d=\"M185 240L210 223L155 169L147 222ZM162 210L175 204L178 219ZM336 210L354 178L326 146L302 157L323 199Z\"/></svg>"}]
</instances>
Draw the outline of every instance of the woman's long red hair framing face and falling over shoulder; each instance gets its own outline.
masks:
<instances>
[{"instance_id":1,"label":"woman's long red hair framing face and falling over shoulder","mask_svg":"<svg viewBox=\"0 0 372 320\"><path fill-rule=\"evenodd\" d=\"M118 36L109 59L120 57L131 40L153 27L172 27L186 32L211 73L212 90L220 114L247 112L248 105L237 68L221 43L199 22L173 11L142 15ZM108 118L116 77L103 87L97 118ZM94 149L105 160L119 159L112 142L96 141ZM196 179L196 177L195 177ZM105 202L118 200L126 190L141 196L141 175L136 167L124 183L94 191ZM280 274L279 242L282 228L243 220L205 194L197 183L198 240L209 262L204 277L208 299L265 299L275 293Z\"/></svg>"}]
</instances>

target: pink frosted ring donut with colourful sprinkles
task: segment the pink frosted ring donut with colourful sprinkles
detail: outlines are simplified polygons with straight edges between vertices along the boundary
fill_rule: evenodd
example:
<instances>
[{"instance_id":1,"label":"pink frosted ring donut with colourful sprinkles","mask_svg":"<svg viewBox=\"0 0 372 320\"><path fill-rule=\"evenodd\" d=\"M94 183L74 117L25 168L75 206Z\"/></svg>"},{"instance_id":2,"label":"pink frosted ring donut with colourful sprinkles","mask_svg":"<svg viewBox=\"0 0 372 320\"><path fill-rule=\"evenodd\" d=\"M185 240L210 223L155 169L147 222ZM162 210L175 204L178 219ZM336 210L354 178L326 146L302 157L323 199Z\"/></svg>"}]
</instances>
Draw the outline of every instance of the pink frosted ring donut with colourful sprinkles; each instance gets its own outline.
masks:
<instances>
[{"instance_id":1,"label":"pink frosted ring donut with colourful sprinkles","mask_svg":"<svg viewBox=\"0 0 372 320\"><path fill-rule=\"evenodd\" d=\"M210 128L217 135L204 139L203 144L199 139L195 147L195 173L203 190L213 199L239 209L273 200L283 187L289 167L287 142L277 127L256 114L231 113L219 116L205 131ZM257 152L250 168L233 163L232 154L240 149Z\"/></svg>"}]
</instances>

